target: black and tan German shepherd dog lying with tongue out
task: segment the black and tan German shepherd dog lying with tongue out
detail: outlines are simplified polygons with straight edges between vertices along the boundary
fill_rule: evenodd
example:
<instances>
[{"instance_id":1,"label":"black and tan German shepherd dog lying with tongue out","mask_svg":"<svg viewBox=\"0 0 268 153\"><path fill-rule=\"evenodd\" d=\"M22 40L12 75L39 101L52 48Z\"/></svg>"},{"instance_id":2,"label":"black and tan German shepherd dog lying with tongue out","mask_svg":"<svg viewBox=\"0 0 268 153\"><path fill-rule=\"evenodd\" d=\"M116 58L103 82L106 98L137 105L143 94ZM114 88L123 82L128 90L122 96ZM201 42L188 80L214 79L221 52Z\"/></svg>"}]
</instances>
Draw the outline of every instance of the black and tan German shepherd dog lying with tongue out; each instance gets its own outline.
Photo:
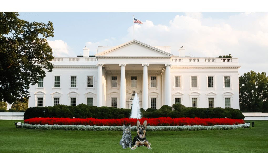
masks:
<instances>
[{"instance_id":1,"label":"black and tan German shepherd dog lying with tongue out","mask_svg":"<svg viewBox=\"0 0 268 153\"><path fill-rule=\"evenodd\" d=\"M137 128L138 128L138 131L137 131L137 135L134 137L133 139L133 147L131 148L131 150L134 150L136 149L136 147L140 147L140 146L146 146L148 149L152 149L150 147L151 143L149 143L147 140L146 140L146 130L145 128L147 127L147 120L145 120L143 122L143 125L140 125L140 121L137 120Z\"/></svg>"}]
</instances>

